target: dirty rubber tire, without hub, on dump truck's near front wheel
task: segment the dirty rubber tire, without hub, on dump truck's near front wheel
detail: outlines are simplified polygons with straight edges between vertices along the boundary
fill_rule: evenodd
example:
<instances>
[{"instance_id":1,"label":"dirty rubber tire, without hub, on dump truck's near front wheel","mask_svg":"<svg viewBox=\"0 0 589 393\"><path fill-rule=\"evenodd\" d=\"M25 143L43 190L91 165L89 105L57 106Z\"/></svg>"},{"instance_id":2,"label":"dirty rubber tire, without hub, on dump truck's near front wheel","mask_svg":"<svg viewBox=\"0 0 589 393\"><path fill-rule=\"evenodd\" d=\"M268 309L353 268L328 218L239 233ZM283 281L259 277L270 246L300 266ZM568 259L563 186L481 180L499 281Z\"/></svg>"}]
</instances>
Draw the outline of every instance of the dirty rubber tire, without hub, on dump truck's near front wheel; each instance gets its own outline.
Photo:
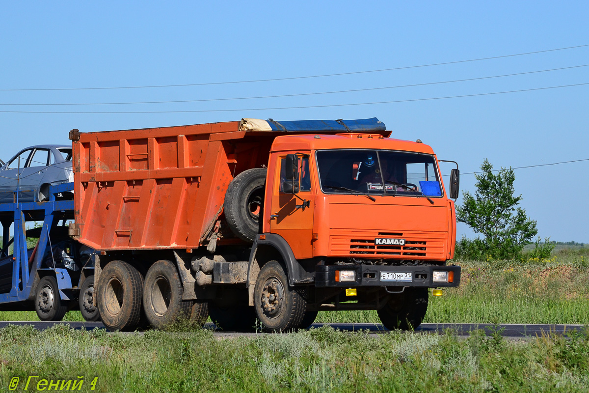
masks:
<instances>
[{"instance_id":1,"label":"dirty rubber tire, without hub, on dump truck's near front wheel","mask_svg":"<svg viewBox=\"0 0 589 393\"><path fill-rule=\"evenodd\" d=\"M261 310L261 304L258 304L260 301L260 286L264 285L266 279L264 279L264 275L268 274L269 276L272 275L272 270L277 275L282 275L280 280L282 281L283 288L285 290L285 295L288 293L290 297L290 301L292 305L289 307L286 305L286 315L283 318L282 323L279 326L268 326L266 318L264 317L263 311ZM269 273L266 273L269 272ZM260 279L262 278L262 279ZM286 296L285 296L286 297ZM262 322L262 329L264 332L268 333L278 333L278 332L288 332L288 331L296 331L300 328L300 325L305 318L305 312L307 309L307 302L303 296L301 296L294 288L289 286L288 276L286 273L286 269L284 269L283 265L276 260L271 260L267 262L262 269L260 269L260 273L258 274L258 279L256 279L256 286L254 288L254 307L256 309L256 313L260 322Z\"/></svg>"}]
</instances>

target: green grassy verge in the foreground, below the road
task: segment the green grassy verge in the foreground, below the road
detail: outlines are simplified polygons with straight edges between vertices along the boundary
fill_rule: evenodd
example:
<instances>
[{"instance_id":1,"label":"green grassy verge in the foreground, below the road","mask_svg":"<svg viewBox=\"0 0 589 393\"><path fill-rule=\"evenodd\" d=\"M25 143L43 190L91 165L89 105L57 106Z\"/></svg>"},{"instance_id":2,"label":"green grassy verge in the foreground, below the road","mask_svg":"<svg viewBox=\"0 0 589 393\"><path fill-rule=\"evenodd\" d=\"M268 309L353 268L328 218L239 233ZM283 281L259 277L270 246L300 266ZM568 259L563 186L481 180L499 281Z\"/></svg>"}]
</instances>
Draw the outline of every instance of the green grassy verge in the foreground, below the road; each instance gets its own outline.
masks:
<instances>
[{"instance_id":1,"label":"green grassy verge in the foreground, below the road","mask_svg":"<svg viewBox=\"0 0 589 393\"><path fill-rule=\"evenodd\" d=\"M0 329L0 383L18 377L24 391L29 375L34 384L83 376L81 391L97 378L95 392L579 392L589 386L589 338Z\"/></svg>"}]
</instances>

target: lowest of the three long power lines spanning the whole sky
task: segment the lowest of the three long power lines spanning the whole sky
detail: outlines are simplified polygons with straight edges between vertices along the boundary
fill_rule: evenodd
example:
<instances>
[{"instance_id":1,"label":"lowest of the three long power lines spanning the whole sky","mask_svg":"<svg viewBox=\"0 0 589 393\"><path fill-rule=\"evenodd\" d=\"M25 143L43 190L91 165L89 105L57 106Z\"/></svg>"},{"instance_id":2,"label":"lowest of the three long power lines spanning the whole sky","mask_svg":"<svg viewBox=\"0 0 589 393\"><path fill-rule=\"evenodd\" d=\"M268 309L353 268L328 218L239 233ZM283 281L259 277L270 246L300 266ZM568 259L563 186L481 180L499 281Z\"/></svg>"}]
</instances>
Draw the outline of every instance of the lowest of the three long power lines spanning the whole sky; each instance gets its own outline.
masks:
<instances>
[{"instance_id":1,"label":"lowest of the three long power lines spanning the whole sky","mask_svg":"<svg viewBox=\"0 0 589 393\"><path fill-rule=\"evenodd\" d=\"M355 105L375 105L375 104L395 104L395 103L411 103L416 101L433 101L446 100L448 98L465 98L465 97L480 97L482 95L496 95L508 93L521 93L524 91L538 91L549 90L563 87L574 87L589 85L589 82L576 83L571 85L560 85L550 87L537 87L522 90L509 91L495 91L494 93L478 93L478 94L464 94L464 95L449 95L446 97L431 97L431 98L413 98L410 100L395 100L395 101L375 101L372 103L354 103L354 104L330 104L330 105L306 105L299 107L274 107L274 108L246 108L246 109L210 109L210 110L186 110L186 111L104 111L104 112L75 112L75 111L0 111L0 113L45 113L45 114L134 114L134 113L212 113L212 112L246 112L246 111L271 111L271 110L286 110L286 109L308 109L308 108L330 108L330 107L351 107Z\"/></svg>"}]
</instances>

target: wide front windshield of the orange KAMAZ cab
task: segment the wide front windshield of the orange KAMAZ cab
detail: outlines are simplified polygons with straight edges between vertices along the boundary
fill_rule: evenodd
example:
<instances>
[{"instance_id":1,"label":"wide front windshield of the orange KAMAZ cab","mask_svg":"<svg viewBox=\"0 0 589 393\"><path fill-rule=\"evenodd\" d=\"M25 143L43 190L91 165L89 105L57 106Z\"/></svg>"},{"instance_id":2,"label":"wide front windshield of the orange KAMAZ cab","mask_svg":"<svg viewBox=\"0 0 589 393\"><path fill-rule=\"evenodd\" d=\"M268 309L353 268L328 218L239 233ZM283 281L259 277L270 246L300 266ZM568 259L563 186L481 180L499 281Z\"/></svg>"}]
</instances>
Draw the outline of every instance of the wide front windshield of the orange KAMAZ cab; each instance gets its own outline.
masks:
<instances>
[{"instance_id":1,"label":"wide front windshield of the orange KAMAZ cab","mask_svg":"<svg viewBox=\"0 0 589 393\"><path fill-rule=\"evenodd\" d=\"M435 158L429 154L319 150L316 158L321 189L327 194L346 194L350 191L345 189L350 189L368 194L442 196Z\"/></svg>"}]
</instances>

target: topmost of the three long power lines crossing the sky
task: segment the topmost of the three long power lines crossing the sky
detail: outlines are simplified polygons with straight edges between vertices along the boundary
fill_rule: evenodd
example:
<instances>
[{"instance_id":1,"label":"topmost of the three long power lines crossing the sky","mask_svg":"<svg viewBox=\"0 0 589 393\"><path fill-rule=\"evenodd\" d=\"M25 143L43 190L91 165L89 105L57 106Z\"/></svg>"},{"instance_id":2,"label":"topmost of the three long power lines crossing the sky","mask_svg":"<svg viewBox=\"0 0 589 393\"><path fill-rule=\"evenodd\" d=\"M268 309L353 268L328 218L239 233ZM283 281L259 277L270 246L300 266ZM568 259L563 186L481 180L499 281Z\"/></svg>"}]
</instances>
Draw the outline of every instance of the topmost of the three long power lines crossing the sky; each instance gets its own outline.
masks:
<instances>
[{"instance_id":1,"label":"topmost of the three long power lines crossing the sky","mask_svg":"<svg viewBox=\"0 0 589 393\"><path fill-rule=\"evenodd\" d=\"M382 68L380 70L368 70L368 71L352 71L352 72L339 72L336 74L321 74L321 75L305 75L302 77L286 77L286 78L270 78L270 79L256 79L256 80L244 80L244 81L229 81L229 82L206 82L206 83L188 83L188 84L175 84L175 85L148 85L148 86L120 86L120 87L71 87L71 88L31 88L31 89L0 89L0 91L62 91L62 90L114 90L114 89L139 89L139 88L161 88L161 87L189 87L189 86L210 86L210 85L226 85L226 84L239 84L239 83L254 83L254 82L273 82L273 81L287 81L287 80L299 80L309 78L323 78L323 77L336 77L341 75L355 75L355 74L368 74L370 72L383 72L383 71L397 71L397 70L409 70L411 68L422 68L422 67L435 67L437 65L449 65L449 64L460 64L465 62L493 60L507 57L517 57L532 55L538 53L564 51L567 49L576 49L589 47L589 44L575 45L574 47L545 49L543 51L517 53L511 55L501 55L492 57L482 57L469 60L458 60L458 61L446 61L432 64L420 64L420 65L409 65L406 67L395 67L395 68Z\"/></svg>"}]
</instances>

